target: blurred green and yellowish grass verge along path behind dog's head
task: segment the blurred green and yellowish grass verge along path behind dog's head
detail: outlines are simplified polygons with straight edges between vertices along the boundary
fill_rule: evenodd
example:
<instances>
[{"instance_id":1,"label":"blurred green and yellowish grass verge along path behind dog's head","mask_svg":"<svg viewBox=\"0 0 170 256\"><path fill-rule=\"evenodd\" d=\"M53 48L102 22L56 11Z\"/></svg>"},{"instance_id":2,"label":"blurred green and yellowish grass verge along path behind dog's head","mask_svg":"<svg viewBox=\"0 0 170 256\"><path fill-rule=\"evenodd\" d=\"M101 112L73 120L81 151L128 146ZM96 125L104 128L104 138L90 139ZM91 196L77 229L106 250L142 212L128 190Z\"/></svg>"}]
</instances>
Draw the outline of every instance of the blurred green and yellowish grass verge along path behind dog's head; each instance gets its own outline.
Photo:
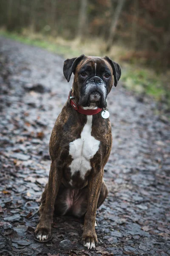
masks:
<instances>
[{"instance_id":1,"label":"blurred green and yellowish grass verge along path behind dog's head","mask_svg":"<svg viewBox=\"0 0 170 256\"><path fill-rule=\"evenodd\" d=\"M7 32L0 30L0 35L22 42L24 44L42 47L51 52L63 55L65 58L72 58L82 54L85 55L103 55L101 53L102 41L93 40L90 44L80 44L75 41L65 41L62 38L54 38L42 34L30 34L25 30L25 35L19 35L14 32ZM90 41L90 40L89 40ZM114 56L111 56L114 59ZM119 62L119 61L118 61ZM122 77L124 86L133 90L136 93L146 93L153 96L159 102L166 102L167 107L170 108L170 88L168 88L170 76L166 74L157 74L152 69L146 69L143 66L138 67L137 64L127 65L122 63ZM166 80L165 80L166 78Z\"/></svg>"}]
</instances>

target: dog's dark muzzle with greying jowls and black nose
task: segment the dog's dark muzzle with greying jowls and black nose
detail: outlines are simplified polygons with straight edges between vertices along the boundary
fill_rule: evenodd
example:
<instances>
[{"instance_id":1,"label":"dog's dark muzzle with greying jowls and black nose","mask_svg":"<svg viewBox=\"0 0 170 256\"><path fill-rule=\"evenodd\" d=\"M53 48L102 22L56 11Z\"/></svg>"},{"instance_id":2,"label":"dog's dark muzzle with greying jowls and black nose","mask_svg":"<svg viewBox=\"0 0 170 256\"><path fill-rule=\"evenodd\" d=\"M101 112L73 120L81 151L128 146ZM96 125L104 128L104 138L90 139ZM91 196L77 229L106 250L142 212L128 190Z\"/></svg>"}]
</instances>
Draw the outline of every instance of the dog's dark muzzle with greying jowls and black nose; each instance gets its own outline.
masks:
<instances>
[{"instance_id":1,"label":"dog's dark muzzle with greying jowls and black nose","mask_svg":"<svg viewBox=\"0 0 170 256\"><path fill-rule=\"evenodd\" d=\"M85 82L80 91L79 105L83 107L96 103L99 108L107 107L107 90L105 82L99 77L94 76Z\"/></svg>"}]
</instances>

